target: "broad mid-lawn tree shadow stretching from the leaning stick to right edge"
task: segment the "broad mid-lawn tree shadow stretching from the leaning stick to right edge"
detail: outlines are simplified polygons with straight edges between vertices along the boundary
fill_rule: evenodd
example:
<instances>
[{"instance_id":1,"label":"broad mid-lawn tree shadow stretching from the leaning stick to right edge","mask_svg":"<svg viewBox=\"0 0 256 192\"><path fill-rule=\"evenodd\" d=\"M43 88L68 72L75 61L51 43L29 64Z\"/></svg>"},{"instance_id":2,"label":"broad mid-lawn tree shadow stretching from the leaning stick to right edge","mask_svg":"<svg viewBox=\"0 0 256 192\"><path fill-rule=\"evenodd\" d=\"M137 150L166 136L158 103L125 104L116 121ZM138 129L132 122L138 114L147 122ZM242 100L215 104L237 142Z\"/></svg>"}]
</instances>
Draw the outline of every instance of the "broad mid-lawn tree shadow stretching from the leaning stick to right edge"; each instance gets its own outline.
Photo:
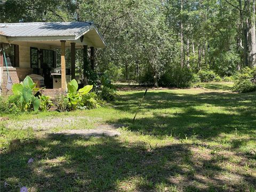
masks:
<instances>
[{"instance_id":1,"label":"broad mid-lawn tree shadow stretching from the leaning stick to right edge","mask_svg":"<svg viewBox=\"0 0 256 192\"><path fill-rule=\"evenodd\" d=\"M115 102L115 109L135 114L143 92L126 94ZM256 94L203 92L176 94L150 92L132 125L133 115L110 123L127 124L143 134L173 135L184 138L198 135L211 139L220 133L256 134ZM150 113L150 115L147 115Z\"/></svg>"}]
</instances>

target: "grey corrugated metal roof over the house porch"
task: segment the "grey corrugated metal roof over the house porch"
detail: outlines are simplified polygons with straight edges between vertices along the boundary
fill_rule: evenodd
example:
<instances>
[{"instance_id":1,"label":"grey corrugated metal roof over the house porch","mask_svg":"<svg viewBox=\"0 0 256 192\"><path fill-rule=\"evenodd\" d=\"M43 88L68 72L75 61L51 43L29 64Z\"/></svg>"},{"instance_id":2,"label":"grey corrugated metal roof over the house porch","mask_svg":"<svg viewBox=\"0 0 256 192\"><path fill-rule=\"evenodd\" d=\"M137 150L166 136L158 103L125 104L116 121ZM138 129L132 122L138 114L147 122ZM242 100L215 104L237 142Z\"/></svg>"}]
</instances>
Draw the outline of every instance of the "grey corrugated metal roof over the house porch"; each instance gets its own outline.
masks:
<instances>
[{"instance_id":1,"label":"grey corrugated metal roof over the house porch","mask_svg":"<svg viewBox=\"0 0 256 192\"><path fill-rule=\"evenodd\" d=\"M6 36L10 41L77 40L85 34L99 47L106 46L92 22L0 23L0 35Z\"/></svg>"}]
</instances>

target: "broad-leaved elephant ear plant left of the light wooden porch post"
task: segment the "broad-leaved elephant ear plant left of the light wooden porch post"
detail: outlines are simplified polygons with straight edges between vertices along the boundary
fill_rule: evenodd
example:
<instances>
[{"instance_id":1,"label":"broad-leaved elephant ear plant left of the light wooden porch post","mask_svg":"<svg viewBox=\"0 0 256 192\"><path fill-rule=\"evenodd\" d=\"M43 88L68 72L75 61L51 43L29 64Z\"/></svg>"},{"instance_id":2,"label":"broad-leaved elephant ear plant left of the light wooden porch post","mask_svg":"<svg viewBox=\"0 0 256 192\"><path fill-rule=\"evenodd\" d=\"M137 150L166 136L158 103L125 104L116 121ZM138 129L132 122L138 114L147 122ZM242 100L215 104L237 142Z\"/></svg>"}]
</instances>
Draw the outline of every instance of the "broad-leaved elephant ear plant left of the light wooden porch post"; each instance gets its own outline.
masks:
<instances>
[{"instance_id":1,"label":"broad-leaved elephant ear plant left of the light wooden porch post","mask_svg":"<svg viewBox=\"0 0 256 192\"><path fill-rule=\"evenodd\" d=\"M27 111L31 107L37 111L40 107L39 98L34 96L37 91L36 84L27 76L23 83L13 84L13 95L9 97L9 102L14 103L21 111Z\"/></svg>"}]
</instances>

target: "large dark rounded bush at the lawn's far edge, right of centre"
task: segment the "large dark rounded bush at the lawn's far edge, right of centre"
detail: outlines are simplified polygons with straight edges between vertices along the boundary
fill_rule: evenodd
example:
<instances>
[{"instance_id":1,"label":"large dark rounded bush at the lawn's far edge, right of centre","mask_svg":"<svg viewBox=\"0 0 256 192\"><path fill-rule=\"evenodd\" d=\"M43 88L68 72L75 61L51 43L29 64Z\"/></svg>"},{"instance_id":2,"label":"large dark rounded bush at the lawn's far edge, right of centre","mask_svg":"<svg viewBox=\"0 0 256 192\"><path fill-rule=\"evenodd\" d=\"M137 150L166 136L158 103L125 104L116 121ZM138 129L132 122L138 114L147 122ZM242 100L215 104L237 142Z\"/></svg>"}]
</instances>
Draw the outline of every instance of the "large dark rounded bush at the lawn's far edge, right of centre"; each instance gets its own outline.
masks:
<instances>
[{"instance_id":1,"label":"large dark rounded bush at the lawn's far edge, right of centre","mask_svg":"<svg viewBox=\"0 0 256 192\"><path fill-rule=\"evenodd\" d=\"M189 87L192 79L193 75L189 68L177 66L164 73L158 84L164 87Z\"/></svg>"}]
</instances>

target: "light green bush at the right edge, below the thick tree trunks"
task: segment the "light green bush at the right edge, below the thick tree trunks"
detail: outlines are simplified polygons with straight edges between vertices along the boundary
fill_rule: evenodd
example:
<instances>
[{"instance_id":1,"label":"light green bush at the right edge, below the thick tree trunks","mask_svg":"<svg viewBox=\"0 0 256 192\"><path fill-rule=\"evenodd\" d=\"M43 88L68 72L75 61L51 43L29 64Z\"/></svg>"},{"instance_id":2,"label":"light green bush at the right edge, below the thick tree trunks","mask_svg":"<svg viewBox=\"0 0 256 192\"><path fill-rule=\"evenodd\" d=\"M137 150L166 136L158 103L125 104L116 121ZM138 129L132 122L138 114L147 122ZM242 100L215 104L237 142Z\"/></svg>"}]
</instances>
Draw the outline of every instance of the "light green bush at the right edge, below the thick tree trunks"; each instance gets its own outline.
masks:
<instances>
[{"instance_id":1,"label":"light green bush at the right edge, below the thick tree trunks","mask_svg":"<svg viewBox=\"0 0 256 192\"><path fill-rule=\"evenodd\" d=\"M235 76L234 90L242 93L256 90L256 67L245 67Z\"/></svg>"}]
</instances>

